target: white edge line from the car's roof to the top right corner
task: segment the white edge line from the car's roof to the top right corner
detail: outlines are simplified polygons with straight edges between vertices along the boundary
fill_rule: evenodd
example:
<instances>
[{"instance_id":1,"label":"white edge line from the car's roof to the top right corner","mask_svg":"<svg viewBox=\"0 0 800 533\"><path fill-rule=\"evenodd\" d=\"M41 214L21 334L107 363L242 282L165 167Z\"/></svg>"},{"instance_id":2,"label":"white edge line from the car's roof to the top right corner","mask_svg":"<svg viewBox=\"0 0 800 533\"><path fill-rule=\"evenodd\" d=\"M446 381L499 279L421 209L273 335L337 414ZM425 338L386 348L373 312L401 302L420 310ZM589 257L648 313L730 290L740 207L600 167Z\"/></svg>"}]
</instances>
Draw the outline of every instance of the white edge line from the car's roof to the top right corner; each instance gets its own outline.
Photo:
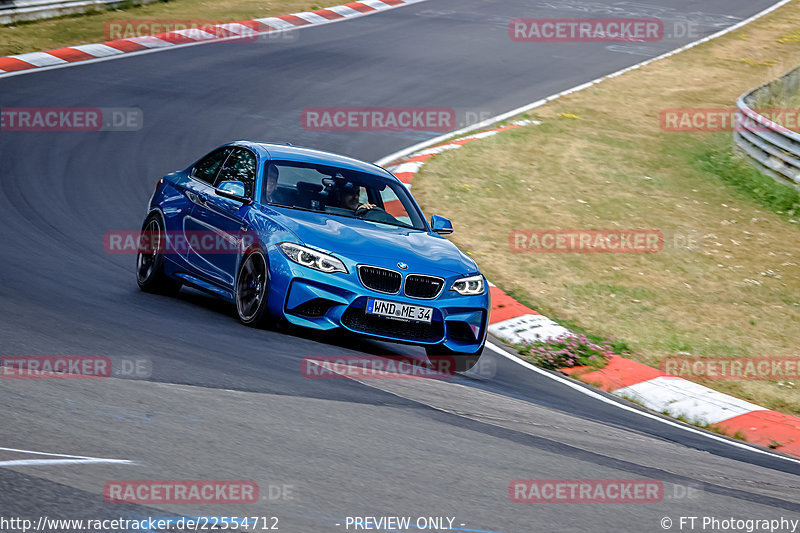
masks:
<instances>
[{"instance_id":1,"label":"white edge line from the car's roof to the top right corner","mask_svg":"<svg viewBox=\"0 0 800 533\"><path fill-rule=\"evenodd\" d=\"M622 75L622 74L624 74L626 72L630 72L631 70L640 69L640 68L642 68L642 67L644 67L646 65L649 65L650 63L653 63L655 61L660 61L662 59L666 59L666 58L668 58L670 56L673 56L675 54L679 54L680 52L684 52L686 50L689 50L690 48L694 48L695 46L701 45L703 43L707 43L708 41L716 39L717 37L722 37L723 35L725 35L727 33L730 33L732 31L736 31L739 28L741 28L742 26L745 26L745 25L753 22L754 20L759 19L759 18L763 17L764 15L772 13L776 9L785 6L786 4L788 4L791 1L792 0L780 0L778 3L768 7L767 9L765 9L763 11L760 11L760 12L756 13L752 17L747 18L747 19L745 19L745 20L743 20L741 22L738 22L738 23L734 24L733 26L730 26L729 28L725 28L724 30L721 30L721 31L718 31L717 33L709 35L708 37L704 37L704 38L702 38L700 40L691 42L691 43L689 43L687 45L681 46L680 48L676 48L675 50L672 50L672 51L667 52L665 54L661 54L660 56L653 57L651 59L647 59L645 61L642 61L641 63L637 63L636 65L633 65L633 66L630 66L630 67L626 67L626 68L624 68L622 70L618 70L618 71L613 72L611 74L608 74L606 76L601 76L600 78L597 78L597 79L594 79L592 81L583 83L581 85L578 85L577 87L573 87L571 89L567 89L566 91L561 91L560 93L554 94L552 96L548 96L547 98L543 98L541 100L537 100L536 102L533 102L531 104L527 104L527 105L524 105L522 107L518 107L516 109L512 109L511 111L508 111L506 113L502 113L500 115L496 115L494 117L487 118L486 120L483 120L483 121L478 122L476 124L472 124L472 125L467 126L465 128L461 128L460 130L455 130L455 131L452 131L450 133L445 133L444 135L440 135L438 137L434 137L433 139L430 139L430 140L427 140L427 141L423 141L421 143L417 143L417 144L415 144L413 146L409 146L408 148L404 148L402 150L398 150L397 152L394 152L393 154L389 154L389 155L387 155L385 157L382 157L381 159L375 161L375 164L378 165L378 166L381 166L381 167L385 166L385 165L391 163L392 161L400 159L401 157L405 157L405 156L407 156L409 154L412 154L412 153L414 153L414 152L416 152L418 150L422 150L423 148L428 148L429 146L432 146L434 144L439 144L439 143L441 143L441 142L443 142L443 141L445 141L445 140L447 140L447 139L449 139L449 138L451 138L453 136L462 135L464 133L469 133L471 131L475 131L475 130L486 128L486 127L491 126L492 124L495 124L497 122L502 122L503 120L515 117L515 116L519 115L520 113L525 113L526 111L530 111L532 109L536 109L537 107L541 107L544 104L546 104L547 102L551 102L553 100L561 98L562 96L566 96L568 94L572 94L572 93L575 93L575 92L578 92L578 91L582 91L582 90L584 90L584 89L586 89L588 87L591 87L592 85L596 85L596 84L600 83L601 81L607 80L609 78L616 78L617 76L620 76L620 75Z\"/></svg>"}]
</instances>

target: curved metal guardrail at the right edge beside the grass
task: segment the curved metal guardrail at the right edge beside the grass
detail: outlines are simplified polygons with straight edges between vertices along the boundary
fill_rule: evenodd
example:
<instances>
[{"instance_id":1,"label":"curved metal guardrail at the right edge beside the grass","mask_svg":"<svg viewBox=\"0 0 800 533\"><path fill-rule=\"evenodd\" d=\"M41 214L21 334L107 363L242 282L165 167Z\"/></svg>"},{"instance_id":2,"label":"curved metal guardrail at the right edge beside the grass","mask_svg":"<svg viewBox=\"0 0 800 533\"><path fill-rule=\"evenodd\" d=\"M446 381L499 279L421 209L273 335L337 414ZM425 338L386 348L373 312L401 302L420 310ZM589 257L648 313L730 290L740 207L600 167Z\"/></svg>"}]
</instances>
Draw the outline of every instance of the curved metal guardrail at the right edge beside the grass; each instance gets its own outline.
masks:
<instances>
[{"instance_id":1,"label":"curved metal guardrail at the right edge beside the grass","mask_svg":"<svg viewBox=\"0 0 800 533\"><path fill-rule=\"evenodd\" d=\"M754 111L774 98L797 95L800 67L747 92L736 100L733 140L761 172L800 188L800 133L772 122ZM744 119L744 120L743 120Z\"/></svg>"}]
</instances>

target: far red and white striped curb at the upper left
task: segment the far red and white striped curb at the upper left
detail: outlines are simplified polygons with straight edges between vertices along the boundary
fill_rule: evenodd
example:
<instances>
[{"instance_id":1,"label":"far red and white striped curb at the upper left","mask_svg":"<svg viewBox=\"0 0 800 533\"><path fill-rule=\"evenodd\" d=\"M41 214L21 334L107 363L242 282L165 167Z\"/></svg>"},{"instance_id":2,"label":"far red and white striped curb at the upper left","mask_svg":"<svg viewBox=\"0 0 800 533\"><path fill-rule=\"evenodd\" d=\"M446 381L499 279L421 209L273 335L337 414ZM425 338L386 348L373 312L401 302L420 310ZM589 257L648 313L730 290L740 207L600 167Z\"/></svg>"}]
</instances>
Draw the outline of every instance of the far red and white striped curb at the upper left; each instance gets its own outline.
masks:
<instances>
[{"instance_id":1,"label":"far red and white striped curb at the upper left","mask_svg":"<svg viewBox=\"0 0 800 533\"><path fill-rule=\"evenodd\" d=\"M361 0L340 6L302 11L280 17L267 17L241 22L204 26L202 29L176 30L145 37L117 39L97 44L82 44L27 54L0 57L0 77L41 68L66 66L89 60L110 59L122 54L152 52L179 46L214 41L252 39L258 35L319 26L372 15L424 0Z\"/></svg>"}]
</instances>

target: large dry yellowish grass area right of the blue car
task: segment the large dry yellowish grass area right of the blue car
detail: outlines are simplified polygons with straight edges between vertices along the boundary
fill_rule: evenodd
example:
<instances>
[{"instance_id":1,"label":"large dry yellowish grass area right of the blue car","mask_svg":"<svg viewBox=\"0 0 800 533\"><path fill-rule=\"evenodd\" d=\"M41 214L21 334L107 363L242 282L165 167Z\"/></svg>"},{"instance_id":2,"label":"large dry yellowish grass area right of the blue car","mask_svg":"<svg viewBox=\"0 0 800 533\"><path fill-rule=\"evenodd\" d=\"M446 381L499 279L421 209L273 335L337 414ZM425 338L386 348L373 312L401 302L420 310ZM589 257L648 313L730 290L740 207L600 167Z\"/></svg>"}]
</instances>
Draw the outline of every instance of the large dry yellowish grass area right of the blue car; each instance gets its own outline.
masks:
<instances>
[{"instance_id":1,"label":"large dry yellowish grass area right of the blue car","mask_svg":"<svg viewBox=\"0 0 800 533\"><path fill-rule=\"evenodd\" d=\"M730 133L674 133L664 109L734 108L800 63L800 3L710 43L555 100L542 122L444 152L415 178L426 210L486 275L544 314L613 336L627 357L798 357L800 199L734 152ZM535 44L532 44L535 46ZM461 228L461 231L459 231ZM696 234L652 254L530 254L514 229ZM701 383L800 414L800 380Z\"/></svg>"}]
</instances>

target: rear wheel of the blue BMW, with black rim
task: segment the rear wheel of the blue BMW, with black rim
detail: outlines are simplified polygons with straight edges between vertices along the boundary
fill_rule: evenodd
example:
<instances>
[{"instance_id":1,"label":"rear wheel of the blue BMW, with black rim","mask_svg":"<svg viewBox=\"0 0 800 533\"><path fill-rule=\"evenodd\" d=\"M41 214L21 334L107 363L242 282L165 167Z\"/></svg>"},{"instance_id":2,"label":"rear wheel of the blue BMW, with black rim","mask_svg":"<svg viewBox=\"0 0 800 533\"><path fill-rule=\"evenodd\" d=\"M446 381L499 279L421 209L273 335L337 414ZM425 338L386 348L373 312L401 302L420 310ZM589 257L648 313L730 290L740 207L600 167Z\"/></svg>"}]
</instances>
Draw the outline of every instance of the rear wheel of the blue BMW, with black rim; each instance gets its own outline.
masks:
<instances>
[{"instance_id":1,"label":"rear wheel of the blue BMW, with black rim","mask_svg":"<svg viewBox=\"0 0 800 533\"><path fill-rule=\"evenodd\" d=\"M181 289L178 281L164 273L164 226L158 214L152 214L142 225L142 234L147 238L139 239L139 251L136 254L136 283L144 292L174 296ZM149 246L145 249L145 243Z\"/></svg>"}]
</instances>

